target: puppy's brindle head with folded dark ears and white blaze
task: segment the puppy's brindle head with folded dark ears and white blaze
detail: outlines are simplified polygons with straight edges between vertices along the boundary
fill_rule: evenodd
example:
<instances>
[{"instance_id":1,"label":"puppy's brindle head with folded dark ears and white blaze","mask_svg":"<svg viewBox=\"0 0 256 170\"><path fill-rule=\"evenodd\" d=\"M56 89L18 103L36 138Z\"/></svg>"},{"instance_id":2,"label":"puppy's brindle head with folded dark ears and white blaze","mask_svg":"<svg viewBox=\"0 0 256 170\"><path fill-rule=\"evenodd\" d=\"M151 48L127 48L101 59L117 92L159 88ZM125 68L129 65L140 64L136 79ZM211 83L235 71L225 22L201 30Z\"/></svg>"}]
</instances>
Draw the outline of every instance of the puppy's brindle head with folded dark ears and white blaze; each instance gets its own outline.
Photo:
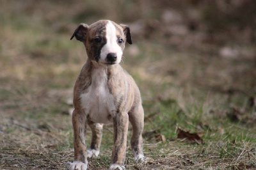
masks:
<instances>
[{"instance_id":1,"label":"puppy's brindle head with folded dark ears and white blaze","mask_svg":"<svg viewBox=\"0 0 256 170\"><path fill-rule=\"evenodd\" d=\"M120 63L125 42L132 44L129 27L110 20L99 20L91 26L80 24L70 40L74 36L84 43L88 58L103 65Z\"/></svg>"}]
</instances>

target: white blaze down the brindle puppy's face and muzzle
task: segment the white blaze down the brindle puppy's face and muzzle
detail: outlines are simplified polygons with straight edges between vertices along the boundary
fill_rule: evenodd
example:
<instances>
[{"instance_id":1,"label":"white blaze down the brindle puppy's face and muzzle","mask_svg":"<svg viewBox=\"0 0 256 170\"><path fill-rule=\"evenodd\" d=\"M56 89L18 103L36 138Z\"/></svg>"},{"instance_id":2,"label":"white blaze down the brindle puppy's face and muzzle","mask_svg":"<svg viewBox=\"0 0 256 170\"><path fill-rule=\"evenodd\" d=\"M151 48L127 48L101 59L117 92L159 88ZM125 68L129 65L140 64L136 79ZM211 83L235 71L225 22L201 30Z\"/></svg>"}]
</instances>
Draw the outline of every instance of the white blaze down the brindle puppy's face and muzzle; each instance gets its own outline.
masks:
<instances>
[{"instance_id":1,"label":"white blaze down the brindle puppy's face and muzzle","mask_svg":"<svg viewBox=\"0 0 256 170\"><path fill-rule=\"evenodd\" d=\"M116 27L109 20L108 24L106 24L106 39L107 43L102 47L100 51L100 63L106 63L106 57L109 53L116 53L116 64L120 63L122 59L122 49L118 45L118 40L116 37Z\"/></svg>"}]
</instances>

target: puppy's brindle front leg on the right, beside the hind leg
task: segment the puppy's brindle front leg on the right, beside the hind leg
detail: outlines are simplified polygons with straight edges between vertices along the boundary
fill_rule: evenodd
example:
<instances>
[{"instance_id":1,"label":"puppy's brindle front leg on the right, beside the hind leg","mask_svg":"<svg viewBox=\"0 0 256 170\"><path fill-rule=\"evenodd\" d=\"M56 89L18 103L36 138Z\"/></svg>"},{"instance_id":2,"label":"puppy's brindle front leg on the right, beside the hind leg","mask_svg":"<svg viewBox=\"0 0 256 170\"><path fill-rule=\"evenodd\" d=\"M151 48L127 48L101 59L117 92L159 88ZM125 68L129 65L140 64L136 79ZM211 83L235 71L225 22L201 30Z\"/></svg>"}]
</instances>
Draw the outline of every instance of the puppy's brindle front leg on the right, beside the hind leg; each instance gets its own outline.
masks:
<instances>
[{"instance_id":1,"label":"puppy's brindle front leg on the right, beside the hind leg","mask_svg":"<svg viewBox=\"0 0 256 170\"><path fill-rule=\"evenodd\" d=\"M115 118L113 118L114 146L112 163L109 169L124 169L128 125L128 114L117 112Z\"/></svg>"}]
</instances>

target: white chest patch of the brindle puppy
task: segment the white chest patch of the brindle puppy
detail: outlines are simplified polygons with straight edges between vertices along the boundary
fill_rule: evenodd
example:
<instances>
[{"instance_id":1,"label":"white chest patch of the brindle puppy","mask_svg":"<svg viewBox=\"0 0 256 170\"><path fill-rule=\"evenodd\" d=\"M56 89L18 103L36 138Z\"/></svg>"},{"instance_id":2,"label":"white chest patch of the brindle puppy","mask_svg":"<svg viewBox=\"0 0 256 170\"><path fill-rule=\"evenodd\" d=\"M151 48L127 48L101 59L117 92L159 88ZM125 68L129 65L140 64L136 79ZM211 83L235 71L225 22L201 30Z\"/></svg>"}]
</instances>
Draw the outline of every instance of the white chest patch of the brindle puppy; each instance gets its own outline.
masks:
<instances>
[{"instance_id":1,"label":"white chest patch of the brindle puppy","mask_svg":"<svg viewBox=\"0 0 256 170\"><path fill-rule=\"evenodd\" d=\"M81 94L81 106L87 117L96 123L110 123L115 111L115 101L109 92L105 73L95 72L92 84Z\"/></svg>"}]
</instances>

